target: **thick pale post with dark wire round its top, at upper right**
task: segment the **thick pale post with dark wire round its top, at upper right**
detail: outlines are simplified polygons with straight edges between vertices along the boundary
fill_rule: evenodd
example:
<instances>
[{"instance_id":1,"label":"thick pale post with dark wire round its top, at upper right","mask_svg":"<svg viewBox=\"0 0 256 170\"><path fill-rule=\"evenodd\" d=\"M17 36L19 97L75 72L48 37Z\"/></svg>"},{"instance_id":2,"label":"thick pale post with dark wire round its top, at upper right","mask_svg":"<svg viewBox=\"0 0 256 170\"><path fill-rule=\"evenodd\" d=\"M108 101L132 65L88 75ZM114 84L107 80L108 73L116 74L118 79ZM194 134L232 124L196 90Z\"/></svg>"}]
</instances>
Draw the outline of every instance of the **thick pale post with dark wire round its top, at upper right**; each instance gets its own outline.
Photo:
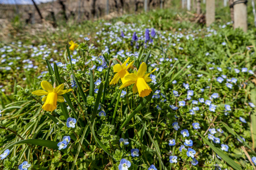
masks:
<instances>
[{"instance_id":1,"label":"thick pale post with dark wire round its top, at upper right","mask_svg":"<svg viewBox=\"0 0 256 170\"><path fill-rule=\"evenodd\" d=\"M235 3L234 5L234 28L241 28L247 32L247 6L245 3Z\"/></svg>"}]
</instances>

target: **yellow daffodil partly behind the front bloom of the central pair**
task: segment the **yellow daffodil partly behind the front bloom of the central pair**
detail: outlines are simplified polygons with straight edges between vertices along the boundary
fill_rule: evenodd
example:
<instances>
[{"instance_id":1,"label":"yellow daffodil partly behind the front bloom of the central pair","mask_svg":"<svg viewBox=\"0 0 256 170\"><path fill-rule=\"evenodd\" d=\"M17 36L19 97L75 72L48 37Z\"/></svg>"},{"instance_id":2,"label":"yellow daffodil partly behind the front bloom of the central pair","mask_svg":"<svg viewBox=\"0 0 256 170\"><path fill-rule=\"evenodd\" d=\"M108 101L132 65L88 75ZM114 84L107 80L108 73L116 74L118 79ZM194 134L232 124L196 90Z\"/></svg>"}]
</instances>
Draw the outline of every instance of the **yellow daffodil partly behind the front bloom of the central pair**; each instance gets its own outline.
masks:
<instances>
[{"instance_id":1,"label":"yellow daffodil partly behind the front bloom of the central pair","mask_svg":"<svg viewBox=\"0 0 256 170\"><path fill-rule=\"evenodd\" d=\"M116 84L118 83L119 79L121 78L122 83L124 84L126 82L125 80L125 76L130 74L127 69L134 63L134 61L130 62L127 66L126 63L130 60L130 57L128 57L127 60L125 60L125 62L120 65L120 64L116 64L113 67L114 72L117 72L114 75L114 78L111 80L110 85L111 84Z\"/></svg>"}]
</instances>

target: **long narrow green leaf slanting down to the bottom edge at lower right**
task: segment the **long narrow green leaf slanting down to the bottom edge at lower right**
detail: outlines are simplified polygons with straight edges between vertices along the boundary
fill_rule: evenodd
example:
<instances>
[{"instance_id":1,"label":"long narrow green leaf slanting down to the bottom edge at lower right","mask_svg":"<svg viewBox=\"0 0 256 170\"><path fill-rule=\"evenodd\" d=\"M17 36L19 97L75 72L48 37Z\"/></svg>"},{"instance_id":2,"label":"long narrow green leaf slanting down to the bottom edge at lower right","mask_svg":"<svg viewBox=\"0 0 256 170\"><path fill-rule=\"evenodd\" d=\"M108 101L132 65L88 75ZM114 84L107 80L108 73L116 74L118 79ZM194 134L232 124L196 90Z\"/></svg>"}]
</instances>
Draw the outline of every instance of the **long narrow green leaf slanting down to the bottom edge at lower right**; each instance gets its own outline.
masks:
<instances>
[{"instance_id":1,"label":"long narrow green leaf slanting down to the bottom edge at lower right","mask_svg":"<svg viewBox=\"0 0 256 170\"><path fill-rule=\"evenodd\" d=\"M227 164L229 164L232 168L234 168L235 170L240 170L241 167L238 163L236 163L232 158L230 158L229 156L227 156L221 149L213 146L212 143L210 143L209 140L207 140L206 138L203 137L203 135L200 135L200 137L203 139L203 141L210 146L210 148L216 152L224 161L227 162Z\"/></svg>"}]
</instances>

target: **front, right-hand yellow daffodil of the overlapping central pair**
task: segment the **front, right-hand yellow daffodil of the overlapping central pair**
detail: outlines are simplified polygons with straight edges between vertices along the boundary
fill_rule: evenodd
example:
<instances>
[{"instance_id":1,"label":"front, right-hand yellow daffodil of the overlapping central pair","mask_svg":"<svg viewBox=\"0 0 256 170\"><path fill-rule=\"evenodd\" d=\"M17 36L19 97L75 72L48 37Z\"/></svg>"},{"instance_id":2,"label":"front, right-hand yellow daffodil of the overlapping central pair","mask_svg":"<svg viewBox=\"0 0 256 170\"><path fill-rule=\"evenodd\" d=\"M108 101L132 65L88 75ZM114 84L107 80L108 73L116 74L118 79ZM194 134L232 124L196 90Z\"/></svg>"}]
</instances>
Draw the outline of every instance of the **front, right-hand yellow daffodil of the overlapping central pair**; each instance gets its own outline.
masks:
<instances>
[{"instance_id":1,"label":"front, right-hand yellow daffodil of the overlapping central pair","mask_svg":"<svg viewBox=\"0 0 256 170\"><path fill-rule=\"evenodd\" d=\"M131 74L125 76L126 82L123 83L122 86L119 87L119 89L122 89L123 87L127 87L127 86L130 86L131 84L135 83L133 85L133 93L139 92L140 97L148 96L152 92L151 88L147 84L147 82L152 81L152 79L149 78L148 76L152 72L154 72L155 69L153 71L151 71L150 73L145 74L147 71L147 66L146 66L146 63L143 62L140 65L140 68L139 68L137 74L131 73Z\"/></svg>"}]
</instances>

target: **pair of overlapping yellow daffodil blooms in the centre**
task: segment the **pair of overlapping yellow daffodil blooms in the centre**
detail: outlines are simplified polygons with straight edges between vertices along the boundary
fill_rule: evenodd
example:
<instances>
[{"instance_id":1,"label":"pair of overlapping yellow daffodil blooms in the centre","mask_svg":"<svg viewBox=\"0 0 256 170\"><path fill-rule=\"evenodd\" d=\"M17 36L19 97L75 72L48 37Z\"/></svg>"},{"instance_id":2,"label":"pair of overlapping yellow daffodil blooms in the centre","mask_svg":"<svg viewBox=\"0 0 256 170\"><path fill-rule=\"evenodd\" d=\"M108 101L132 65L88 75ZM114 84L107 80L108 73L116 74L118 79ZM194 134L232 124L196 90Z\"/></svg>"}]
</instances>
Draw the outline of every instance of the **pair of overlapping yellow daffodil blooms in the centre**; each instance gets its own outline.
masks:
<instances>
[{"instance_id":1,"label":"pair of overlapping yellow daffodil blooms in the centre","mask_svg":"<svg viewBox=\"0 0 256 170\"><path fill-rule=\"evenodd\" d=\"M138 71L134 71L134 73L129 73L127 69L130 68L131 65L134 63L134 61L132 61L126 66L126 63L129 60L130 60L130 57L128 57L128 59L126 59L122 65L120 64L114 65L113 70L114 72L117 72L117 73L114 75L114 78L111 80L110 85L118 83L119 79L121 78L121 81L123 84L122 86L119 87L119 89L123 89L124 87L134 84L133 93L139 92L140 97L148 96L152 92L152 89L147 84L148 82L151 82L152 79L149 78L148 76L152 72L154 72L156 68L153 71L145 74L147 71L147 66L146 66L146 63L143 62L140 65L140 68Z\"/></svg>"}]
</instances>

